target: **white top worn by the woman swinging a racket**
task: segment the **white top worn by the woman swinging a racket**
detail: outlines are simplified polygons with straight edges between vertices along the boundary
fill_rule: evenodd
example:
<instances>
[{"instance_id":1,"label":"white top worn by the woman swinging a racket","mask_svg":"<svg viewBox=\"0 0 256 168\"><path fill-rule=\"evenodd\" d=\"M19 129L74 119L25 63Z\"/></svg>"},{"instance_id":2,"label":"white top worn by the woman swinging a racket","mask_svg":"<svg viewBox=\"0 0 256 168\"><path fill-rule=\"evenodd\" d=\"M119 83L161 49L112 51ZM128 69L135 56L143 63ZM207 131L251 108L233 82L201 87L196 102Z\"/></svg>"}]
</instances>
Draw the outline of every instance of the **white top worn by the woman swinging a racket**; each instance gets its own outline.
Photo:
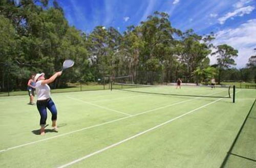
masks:
<instances>
[{"instance_id":1,"label":"white top worn by the woman swinging a racket","mask_svg":"<svg viewBox=\"0 0 256 168\"><path fill-rule=\"evenodd\" d=\"M35 91L37 95L37 100L45 100L51 97L51 89L45 84L42 85L42 80L35 83Z\"/></svg>"}]
</instances>

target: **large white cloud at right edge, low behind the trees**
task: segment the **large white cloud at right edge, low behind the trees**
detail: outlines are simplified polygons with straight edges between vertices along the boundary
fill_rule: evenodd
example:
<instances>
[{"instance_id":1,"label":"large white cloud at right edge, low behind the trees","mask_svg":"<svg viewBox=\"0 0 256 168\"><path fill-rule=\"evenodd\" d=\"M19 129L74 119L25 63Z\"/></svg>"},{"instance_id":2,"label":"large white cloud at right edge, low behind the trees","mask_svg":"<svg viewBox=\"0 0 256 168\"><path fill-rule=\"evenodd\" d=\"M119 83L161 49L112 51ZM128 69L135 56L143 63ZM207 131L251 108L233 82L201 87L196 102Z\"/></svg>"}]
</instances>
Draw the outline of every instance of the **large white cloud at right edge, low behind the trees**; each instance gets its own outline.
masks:
<instances>
[{"instance_id":1,"label":"large white cloud at right edge, low behind the trees","mask_svg":"<svg viewBox=\"0 0 256 168\"><path fill-rule=\"evenodd\" d=\"M217 32L214 45L227 44L238 49L238 57L235 59L238 68L245 67L248 59L256 46L256 19L248 20L235 29L225 29ZM215 58L210 57L211 64L215 63Z\"/></svg>"}]
</instances>

